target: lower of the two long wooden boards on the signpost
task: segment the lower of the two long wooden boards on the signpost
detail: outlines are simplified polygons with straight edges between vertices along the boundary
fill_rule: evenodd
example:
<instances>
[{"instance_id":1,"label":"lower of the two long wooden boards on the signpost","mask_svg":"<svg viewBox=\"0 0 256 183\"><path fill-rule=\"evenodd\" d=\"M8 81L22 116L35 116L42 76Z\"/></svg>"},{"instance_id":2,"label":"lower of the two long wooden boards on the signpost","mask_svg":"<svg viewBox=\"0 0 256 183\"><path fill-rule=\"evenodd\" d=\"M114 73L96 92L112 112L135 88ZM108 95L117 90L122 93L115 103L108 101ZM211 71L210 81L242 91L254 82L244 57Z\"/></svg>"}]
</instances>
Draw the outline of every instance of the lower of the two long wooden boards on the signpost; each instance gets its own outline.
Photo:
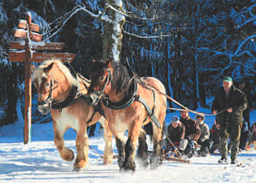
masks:
<instances>
[{"instance_id":1,"label":"lower of the two long wooden boards on the signpost","mask_svg":"<svg viewBox=\"0 0 256 183\"><path fill-rule=\"evenodd\" d=\"M43 62L48 59L60 59L65 62L71 63L75 58L75 53L69 52L33 52L31 60L36 62ZM20 61L24 62L26 59L25 51L10 51L9 60L10 61Z\"/></svg>"}]
</instances>

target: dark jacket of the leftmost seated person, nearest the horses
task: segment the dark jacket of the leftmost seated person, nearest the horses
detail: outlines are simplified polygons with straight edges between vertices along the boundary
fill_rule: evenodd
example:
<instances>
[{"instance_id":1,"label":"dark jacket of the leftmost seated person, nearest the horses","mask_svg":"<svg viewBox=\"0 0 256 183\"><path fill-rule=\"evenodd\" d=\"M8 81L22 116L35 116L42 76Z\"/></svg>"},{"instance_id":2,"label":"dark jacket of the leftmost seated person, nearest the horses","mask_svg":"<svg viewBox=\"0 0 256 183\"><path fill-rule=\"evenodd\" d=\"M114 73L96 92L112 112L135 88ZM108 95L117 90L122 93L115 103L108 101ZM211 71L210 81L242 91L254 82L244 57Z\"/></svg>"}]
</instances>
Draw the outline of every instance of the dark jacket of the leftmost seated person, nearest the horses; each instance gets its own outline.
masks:
<instances>
[{"instance_id":1,"label":"dark jacket of the leftmost seated person, nearest the horses","mask_svg":"<svg viewBox=\"0 0 256 183\"><path fill-rule=\"evenodd\" d=\"M178 126L174 128L172 124L170 124L167 128L167 137L170 138L174 144L179 144L181 139L185 137L185 126L179 123Z\"/></svg>"}]
</instances>

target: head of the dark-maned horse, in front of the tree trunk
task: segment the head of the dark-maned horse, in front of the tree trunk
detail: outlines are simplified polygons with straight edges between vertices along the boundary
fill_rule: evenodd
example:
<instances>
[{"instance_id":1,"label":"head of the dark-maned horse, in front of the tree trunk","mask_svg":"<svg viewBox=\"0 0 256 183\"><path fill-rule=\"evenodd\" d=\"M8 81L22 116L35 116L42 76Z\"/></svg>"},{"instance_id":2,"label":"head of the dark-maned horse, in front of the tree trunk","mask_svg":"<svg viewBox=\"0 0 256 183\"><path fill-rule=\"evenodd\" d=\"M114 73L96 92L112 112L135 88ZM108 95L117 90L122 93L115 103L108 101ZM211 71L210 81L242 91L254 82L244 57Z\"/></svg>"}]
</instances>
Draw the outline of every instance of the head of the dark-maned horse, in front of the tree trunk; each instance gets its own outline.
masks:
<instances>
[{"instance_id":1,"label":"head of the dark-maned horse, in front of the tree trunk","mask_svg":"<svg viewBox=\"0 0 256 183\"><path fill-rule=\"evenodd\" d=\"M111 91L111 61L93 60L93 66L89 73L91 84L88 95L91 104L97 105L102 97Z\"/></svg>"}]
</instances>

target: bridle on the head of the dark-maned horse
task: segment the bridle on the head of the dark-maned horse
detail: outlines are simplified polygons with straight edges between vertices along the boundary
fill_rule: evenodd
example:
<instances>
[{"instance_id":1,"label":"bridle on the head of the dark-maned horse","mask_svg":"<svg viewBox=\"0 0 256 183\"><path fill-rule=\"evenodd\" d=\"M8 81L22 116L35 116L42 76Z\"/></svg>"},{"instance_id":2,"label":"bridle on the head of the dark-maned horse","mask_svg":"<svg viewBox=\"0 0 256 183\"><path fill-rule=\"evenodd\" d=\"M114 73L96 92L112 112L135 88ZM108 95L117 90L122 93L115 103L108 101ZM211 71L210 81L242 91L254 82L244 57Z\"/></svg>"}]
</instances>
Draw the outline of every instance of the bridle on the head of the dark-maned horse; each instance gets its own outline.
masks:
<instances>
[{"instance_id":1,"label":"bridle on the head of the dark-maned horse","mask_svg":"<svg viewBox=\"0 0 256 183\"><path fill-rule=\"evenodd\" d=\"M107 84L109 84L109 82L111 82L111 70L107 69L107 68L104 68L104 70L106 70L108 73L107 73L107 77L105 79L105 82L104 82L104 85L102 87L101 90L94 90L93 91L93 94L96 95L95 98L92 99L91 101L91 104L93 105L97 105L98 102L100 102L100 99L108 99L109 97L107 95L104 95L104 90L107 86Z\"/></svg>"}]
</instances>

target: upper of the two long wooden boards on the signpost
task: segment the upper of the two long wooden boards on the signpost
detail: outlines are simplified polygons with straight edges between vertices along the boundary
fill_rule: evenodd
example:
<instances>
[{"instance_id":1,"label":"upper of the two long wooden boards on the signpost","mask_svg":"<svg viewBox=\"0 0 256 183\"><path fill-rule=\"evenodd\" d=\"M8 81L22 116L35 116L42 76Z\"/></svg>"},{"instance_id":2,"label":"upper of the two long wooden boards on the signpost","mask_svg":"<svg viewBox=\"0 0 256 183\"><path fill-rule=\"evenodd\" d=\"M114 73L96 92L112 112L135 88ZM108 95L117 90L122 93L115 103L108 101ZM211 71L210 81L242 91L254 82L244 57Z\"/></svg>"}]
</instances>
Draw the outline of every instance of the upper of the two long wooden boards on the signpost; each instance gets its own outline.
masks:
<instances>
[{"instance_id":1,"label":"upper of the two long wooden boards on the signpost","mask_svg":"<svg viewBox=\"0 0 256 183\"><path fill-rule=\"evenodd\" d=\"M44 43L44 42L30 42L32 50L62 50L64 43ZM10 41L10 49L25 49L25 41Z\"/></svg>"}]
</instances>

